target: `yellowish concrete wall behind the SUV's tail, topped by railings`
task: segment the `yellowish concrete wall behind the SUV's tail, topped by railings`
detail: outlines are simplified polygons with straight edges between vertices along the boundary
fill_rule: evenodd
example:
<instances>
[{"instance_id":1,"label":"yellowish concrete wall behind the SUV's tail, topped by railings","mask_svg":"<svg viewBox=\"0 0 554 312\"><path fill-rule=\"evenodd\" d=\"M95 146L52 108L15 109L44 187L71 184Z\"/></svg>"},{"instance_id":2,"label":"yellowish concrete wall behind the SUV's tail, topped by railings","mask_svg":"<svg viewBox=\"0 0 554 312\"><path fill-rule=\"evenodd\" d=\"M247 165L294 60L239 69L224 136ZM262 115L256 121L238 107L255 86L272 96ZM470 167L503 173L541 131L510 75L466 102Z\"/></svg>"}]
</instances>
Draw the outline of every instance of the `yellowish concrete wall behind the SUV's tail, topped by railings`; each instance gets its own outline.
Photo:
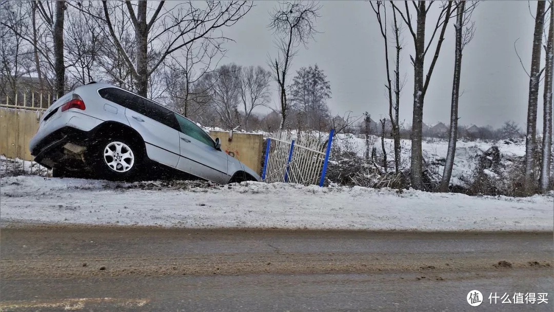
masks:
<instances>
[{"instance_id":1,"label":"yellowish concrete wall behind the SUV's tail, topped by railings","mask_svg":"<svg viewBox=\"0 0 554 312\"><path fill-rule=\"evenodd\" d=\"M0 108L0 155L33 160L29 141L38 129L40 111Z\"/></svg>"}]
</instances>

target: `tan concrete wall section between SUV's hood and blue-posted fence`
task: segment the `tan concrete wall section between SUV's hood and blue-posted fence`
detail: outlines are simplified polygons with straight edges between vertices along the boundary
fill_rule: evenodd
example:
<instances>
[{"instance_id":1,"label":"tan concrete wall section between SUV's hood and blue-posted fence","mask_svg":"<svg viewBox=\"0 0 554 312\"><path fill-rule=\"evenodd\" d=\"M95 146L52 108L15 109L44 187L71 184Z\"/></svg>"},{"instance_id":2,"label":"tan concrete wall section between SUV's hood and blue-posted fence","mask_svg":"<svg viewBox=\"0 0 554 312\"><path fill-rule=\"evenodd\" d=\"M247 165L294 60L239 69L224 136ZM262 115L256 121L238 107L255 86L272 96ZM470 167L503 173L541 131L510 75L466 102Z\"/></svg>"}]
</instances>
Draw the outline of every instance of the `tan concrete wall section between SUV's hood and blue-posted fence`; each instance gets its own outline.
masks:
<instances>
[{"instance_id":1,"label":"tan concrete wall section between SUV's hood and blue-posted fence","mask_svg":"<svg viewBox=\"0 0 554 312\"><path fill-rule=\"evenodd\" d=\"M229 131L210 131L209 135L215 140L219 137L221 150L237 158L258 174L261 174L261 160L264 156L264 136L261 134L233 132L229 140Z\"/></svg>"}]
</instances>

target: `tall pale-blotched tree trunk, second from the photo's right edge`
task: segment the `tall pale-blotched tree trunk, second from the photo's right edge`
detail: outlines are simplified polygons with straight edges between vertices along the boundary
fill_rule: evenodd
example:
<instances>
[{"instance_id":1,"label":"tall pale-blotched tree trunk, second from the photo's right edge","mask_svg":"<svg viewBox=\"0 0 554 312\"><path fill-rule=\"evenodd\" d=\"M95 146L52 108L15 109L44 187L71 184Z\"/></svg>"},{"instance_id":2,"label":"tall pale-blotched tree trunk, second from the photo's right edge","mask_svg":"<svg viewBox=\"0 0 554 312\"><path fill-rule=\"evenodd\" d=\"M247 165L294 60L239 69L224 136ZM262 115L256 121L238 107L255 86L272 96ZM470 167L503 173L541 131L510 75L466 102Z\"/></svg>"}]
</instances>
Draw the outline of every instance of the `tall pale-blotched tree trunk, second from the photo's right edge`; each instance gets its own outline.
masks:
<instances>
[{"instance_id":1,"label":"tall pale-blotched tree trunk, second from the photo's right edge","mask_svg":"<svg viewBox=\"0 0 554 312\"><path fill-rule=\"evenodd\" d=\"M525 193L530 195L535 189L535 153L537 132L537 99L541 74L542 28L544 25L546 1L537 2L535 15L535 32L533 34L533 51L529 79L529 104L527 106L527 135L525 137Z\"/></svg>"}]
</instances>

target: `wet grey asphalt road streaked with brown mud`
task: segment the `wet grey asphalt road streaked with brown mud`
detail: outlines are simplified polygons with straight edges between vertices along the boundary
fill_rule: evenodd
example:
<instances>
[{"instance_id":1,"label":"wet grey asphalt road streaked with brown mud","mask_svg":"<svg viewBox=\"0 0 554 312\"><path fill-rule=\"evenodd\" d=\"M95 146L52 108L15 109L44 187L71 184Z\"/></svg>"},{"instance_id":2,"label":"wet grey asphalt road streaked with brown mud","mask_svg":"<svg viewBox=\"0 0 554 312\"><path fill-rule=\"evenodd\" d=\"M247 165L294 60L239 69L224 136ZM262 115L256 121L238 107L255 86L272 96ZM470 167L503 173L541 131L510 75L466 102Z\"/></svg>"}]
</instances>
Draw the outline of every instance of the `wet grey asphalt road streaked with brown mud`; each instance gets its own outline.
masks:
<instances>
[{"instance_id":1,"label":"wet grey asphalt road streaked with brown mud","mask_svg":"<svg viewBox=\"0 0 554 312\"><path fill-rule=\"evenodd\" d=\"M553 260L552 233L4 228L0 309L552 311Z\"/></svg>"}]
</instances>

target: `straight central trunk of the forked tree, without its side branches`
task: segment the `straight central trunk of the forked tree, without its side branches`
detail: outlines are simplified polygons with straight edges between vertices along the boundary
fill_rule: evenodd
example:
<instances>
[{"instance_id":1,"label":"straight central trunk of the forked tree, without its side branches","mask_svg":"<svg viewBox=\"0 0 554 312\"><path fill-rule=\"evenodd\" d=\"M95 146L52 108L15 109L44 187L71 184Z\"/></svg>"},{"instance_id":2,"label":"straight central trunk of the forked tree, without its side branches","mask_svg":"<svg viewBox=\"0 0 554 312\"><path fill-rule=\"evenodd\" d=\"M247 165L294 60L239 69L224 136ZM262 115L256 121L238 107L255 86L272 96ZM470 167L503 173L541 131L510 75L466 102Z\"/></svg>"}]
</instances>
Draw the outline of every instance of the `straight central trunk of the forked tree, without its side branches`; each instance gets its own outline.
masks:
<instances>
[{"instance_id":1,"label":"straight central trunk of the forked tree, without its side branches","mask_svg":"<svg viewBox=\"0 0 554 312\"><path fill-rule=\"evenodd\" d=\"M416 58L414 59L414 104L412 116L412 160L411 182L412 187L423 190L423 156L422 126L423 126L423 60L425 51L425 1L418 4L417 35L414 42Z\"/></svg>"}]
</instances>

